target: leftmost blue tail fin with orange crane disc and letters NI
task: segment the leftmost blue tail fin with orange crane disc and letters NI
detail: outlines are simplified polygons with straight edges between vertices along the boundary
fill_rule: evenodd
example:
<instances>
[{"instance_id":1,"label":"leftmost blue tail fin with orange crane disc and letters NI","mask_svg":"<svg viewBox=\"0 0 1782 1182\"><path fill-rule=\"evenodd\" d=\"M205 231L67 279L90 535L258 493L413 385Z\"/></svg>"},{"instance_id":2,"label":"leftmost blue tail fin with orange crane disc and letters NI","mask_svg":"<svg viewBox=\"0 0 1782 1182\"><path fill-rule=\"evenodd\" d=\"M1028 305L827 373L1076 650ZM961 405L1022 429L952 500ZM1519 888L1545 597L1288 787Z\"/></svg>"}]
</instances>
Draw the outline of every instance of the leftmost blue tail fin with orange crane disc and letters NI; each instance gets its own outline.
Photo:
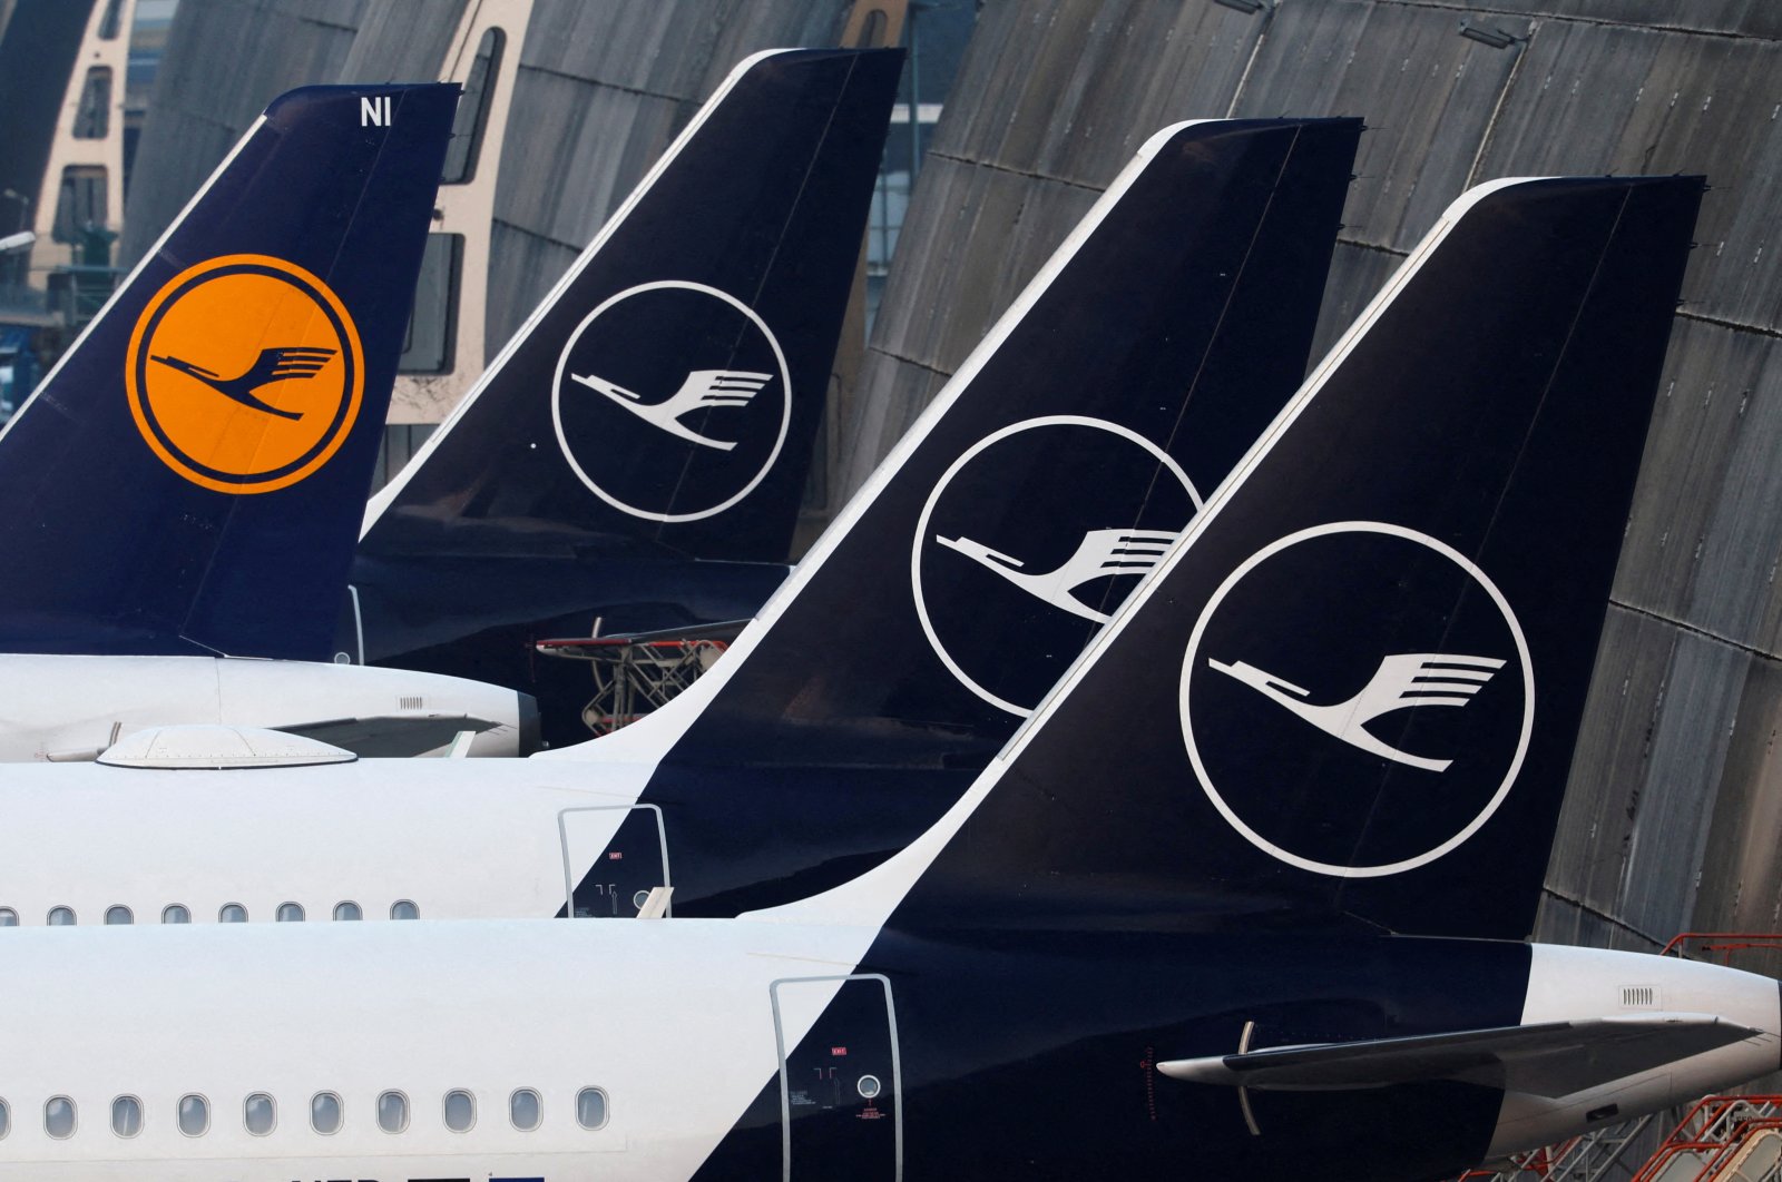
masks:
<instances>
[{"instance_id":1,"label":"leftmost blue tail fin with orange crane disc and letters NI","mask_svg":"<svg viewBox=\"0 0 1782 1182\"><path fill-rule=\"evenodd\" d=\"M456 96L249 128L0 434L0 648L331 652Z\"/></svg>"}]
</instances>

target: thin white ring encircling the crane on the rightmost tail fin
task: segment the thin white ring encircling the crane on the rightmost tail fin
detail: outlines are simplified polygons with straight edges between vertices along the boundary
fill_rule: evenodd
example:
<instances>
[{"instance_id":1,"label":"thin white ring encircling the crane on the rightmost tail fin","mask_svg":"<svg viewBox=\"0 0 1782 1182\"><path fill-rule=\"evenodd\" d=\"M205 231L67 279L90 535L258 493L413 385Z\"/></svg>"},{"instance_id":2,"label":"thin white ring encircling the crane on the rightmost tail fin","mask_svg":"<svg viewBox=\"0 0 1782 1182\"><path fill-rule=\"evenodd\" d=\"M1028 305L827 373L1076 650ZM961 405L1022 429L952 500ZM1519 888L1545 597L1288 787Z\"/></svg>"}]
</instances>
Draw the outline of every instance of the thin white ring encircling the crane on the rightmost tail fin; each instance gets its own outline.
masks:
<instances>
[{"instance_id":1,"label":"thin white ring encircling the crane on the rightmost tail fin","mask_svg":"<svg viewBox=\"0 0 1782 1182\"><path fill-rule=\"evenodd\" d=\"M1194 742L1194 726L1189 723L1189 680L1194 671L1194 657L1196 653L1199 653L1201 639L1206 634L1206 623L1208 619L1212 619L1212 614L1219 609L1219 603L1224 602L1224 596L1244 579L1244 575L1253 571L1263 561L1274 557L1281 550L1287 550L1288 546L1294 546L1301 541L1310 541L1312 538L1322 538L1329 534L1386 534L1388 538L1402 538L1406 541L1418 543L1422 546L1435 550L1442 557L1449 559L1463 571L1467 571L1467 575L1474 582L1484 587L1484 593L1492 596L1493 603L1497 603L1497 611L1504 616L1504 623L1509 625L1509 636L1516 641L1516 657L1522 660L1522 737L1516 742L1516 757L1509 760L1509 769L1504 773L1504 781L1497 787L1497 794L1493 794L1492 799L1486 801L1484 808L1479 810L1479 815L1474 817L1472 822L1467 824L1459 833L1456 833L1454 837L1447 838L1445 842L1442 842L1433 849L1427 849L1413 858L1402 858L1401 862L1390 862L1381 865L1361 865L1361 867L1333 865L1329 862L1313 862L1312 858L1301 858L1299 854L1288 853L1287 849L1281 849L1269 838L1262 837L1247 824L1244 824L1244 821L1238 819L1237 812L1233 812L1233 808L1226 805L1224 797L1219 796L1219 790L1214 789L1212 776L1206 774L1206 767L1201 765L1201 753ZM1235 571L1226 575L1226 580L1221 582L1219 589L1214 591L1210 600L1206 600L1206 607L1201 609L1201 618L1194 623L1194 632L1189 634L1189 648L1181 659L1181 692L1178 708L1181 712L1181 741L1189 749L1189 762L1194 765L1194 776L1201 781L1201 790L1206 792L1206 799L1212 801L1214 808L1219 810L1219 814L1226 819L1226 822L1233 830L1237 830L1244 837L1244 840L1247 840L1251 846L1263 851L1271 858L1276 858L1278 862L1299 867L1301 870L1312 870L1313 874L1331 874L1336 878L1385 878L1388 874L1402 874L1406 870L1415 870L1417 867L1429 865L1442 854L1456 849L1458 846L1467 842L1474 833L1477 833L1479 826L1490 821L1492 814L1495 814L1499 805L1504 803L1504 797L1509 796L1509 789L1516 783L1516 774L1522 771L1522 760L1529 753L1529 737L1534 732L1534 662L1529 657L1529 641L1522 634L1522 623L1516 619L1516 614L1509 609L1509 600L1504 598L1504 593L1497 589L1497 584L1492 582L1490 577L1486 577L1486 573L1479 570L1479 566L1465 554L1461 554L1459 550L1443 541L1438 541L1436 538L1431 538L1429 534L1420 534L1413 529L1404 529L1402 525L1392 525L1388 522L1329 522L1326 525L1313 525L1310 529L1297 530L1285 538L1278 538L1276 541L1269 543L1256 554L1244 559L1244 563L1238 564Z\"/></svg>"}]
</instances>

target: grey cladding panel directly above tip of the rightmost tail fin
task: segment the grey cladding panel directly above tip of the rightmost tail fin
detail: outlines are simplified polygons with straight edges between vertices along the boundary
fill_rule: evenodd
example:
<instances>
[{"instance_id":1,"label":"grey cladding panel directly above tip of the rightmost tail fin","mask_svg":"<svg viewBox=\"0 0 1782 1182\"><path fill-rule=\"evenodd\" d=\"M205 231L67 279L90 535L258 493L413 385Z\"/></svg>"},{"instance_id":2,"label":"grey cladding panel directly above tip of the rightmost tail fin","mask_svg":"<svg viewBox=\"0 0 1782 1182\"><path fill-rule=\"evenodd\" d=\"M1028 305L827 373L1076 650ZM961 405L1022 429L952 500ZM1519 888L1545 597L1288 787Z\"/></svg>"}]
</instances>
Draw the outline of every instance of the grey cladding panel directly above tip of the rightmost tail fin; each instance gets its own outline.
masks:
<instances>
[{"instance_id":1,"label":"grey cladding panel directly above tip of the rightmost tail fin","mask_svg":"<svg viewBox=\"0 0 1782 1182\"><path fill-rule=\"evenodd\" d=\"M1479 176L1705 173L1716 196L1696 226L1705 249L1684 287L1689 310L1775 331L1778 75L1778 43L1543 21L1522 52Z\"/></svg>"}]
</instances>

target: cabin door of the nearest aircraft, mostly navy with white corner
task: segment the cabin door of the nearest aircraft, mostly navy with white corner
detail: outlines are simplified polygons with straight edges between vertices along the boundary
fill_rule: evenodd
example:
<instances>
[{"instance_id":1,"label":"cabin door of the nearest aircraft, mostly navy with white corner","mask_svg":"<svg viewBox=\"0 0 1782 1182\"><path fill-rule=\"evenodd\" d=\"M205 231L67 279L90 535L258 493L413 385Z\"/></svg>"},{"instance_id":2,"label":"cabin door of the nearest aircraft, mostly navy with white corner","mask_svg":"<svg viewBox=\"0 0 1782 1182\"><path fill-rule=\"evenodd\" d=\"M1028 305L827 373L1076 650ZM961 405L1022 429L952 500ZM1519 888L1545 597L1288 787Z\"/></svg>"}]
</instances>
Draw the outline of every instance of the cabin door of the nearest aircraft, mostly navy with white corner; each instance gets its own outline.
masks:
<instances>
[{"instance_id":1,"label":"cabin door of the nearest aircraft, mostly navy with white corner","mask_svg":"<svg viewBox=\"0 0 1782 1182\"><path fill-rule=\"evenodd\" d=\"M775 981L784 1182L900 1182L902 1070L891 981L879 974ZM797 1047L788 1025L820 1011Z\"/></svg>"}]
</instances>

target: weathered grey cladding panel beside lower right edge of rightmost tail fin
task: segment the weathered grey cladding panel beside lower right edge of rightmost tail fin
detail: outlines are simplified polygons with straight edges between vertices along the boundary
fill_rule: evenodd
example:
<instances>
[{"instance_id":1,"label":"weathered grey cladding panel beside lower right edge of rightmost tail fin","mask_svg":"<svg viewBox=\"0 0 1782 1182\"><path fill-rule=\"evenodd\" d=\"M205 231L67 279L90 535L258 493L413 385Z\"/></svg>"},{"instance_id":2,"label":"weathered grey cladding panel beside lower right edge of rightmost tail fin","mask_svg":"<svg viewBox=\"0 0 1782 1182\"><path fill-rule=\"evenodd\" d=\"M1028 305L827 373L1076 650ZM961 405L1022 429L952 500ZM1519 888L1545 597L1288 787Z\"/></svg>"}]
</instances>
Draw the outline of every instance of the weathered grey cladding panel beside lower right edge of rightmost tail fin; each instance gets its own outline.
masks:
<instances>
[{"instance_id":1,"label":"weathered grey cladding panel beside lower right edge of rightmost tail fin","mask_svg":"<svg viewBox=\"0 0 1782 1182\"><path fill-rule=\"evenodd\" d=\"M1609 609L1549 892L1652 943L1689 927L1748 664L1729 644ZM1673 701L1684 708L1666 710Z\"/></svg>"}]
</instances>

